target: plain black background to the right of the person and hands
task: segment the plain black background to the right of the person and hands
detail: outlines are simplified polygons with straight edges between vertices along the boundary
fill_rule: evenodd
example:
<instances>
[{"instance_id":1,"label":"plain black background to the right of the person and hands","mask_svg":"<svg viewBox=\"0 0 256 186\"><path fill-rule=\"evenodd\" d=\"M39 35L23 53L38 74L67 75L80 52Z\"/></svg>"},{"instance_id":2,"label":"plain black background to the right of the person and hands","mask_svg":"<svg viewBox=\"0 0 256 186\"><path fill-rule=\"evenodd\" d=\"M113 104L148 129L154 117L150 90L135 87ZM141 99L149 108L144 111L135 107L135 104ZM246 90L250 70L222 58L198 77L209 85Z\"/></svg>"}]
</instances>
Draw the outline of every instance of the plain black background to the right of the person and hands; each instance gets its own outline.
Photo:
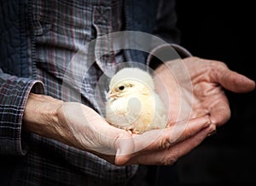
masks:
<instances>
[{"instance_id":1,"label":"plain black background to the right of the person and hands","mask_svg":"<svg viewBox=\"0 0 256 186\"><path fill-rule=\"evenodd\" d=\"M255 81L254 7L253 1L177 0L181 44L193 55L224 61ZM231 118L177 161L181 185L256 185L255 92L226 91Z\"/></svg>"}]
</instances>

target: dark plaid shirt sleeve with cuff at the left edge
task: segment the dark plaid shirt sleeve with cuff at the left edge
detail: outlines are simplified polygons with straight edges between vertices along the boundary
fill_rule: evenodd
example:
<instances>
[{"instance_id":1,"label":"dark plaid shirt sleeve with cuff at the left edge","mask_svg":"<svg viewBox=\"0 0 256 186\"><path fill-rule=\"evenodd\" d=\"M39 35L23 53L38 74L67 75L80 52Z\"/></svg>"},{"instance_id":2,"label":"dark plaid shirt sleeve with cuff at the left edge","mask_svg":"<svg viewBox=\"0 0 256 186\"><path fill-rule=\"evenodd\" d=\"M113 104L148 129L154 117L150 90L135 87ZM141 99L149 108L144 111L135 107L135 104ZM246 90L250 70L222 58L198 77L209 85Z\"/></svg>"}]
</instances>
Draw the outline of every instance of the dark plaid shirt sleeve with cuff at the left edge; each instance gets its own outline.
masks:
<instances>
[{"instance_id":1,"label":"dark plaid shirt sleeve with cuff at the left edge","mask_svg":"<svg viewBox=\"0 0 256 186\"><path fill-rule=\"evenodd\" d=\"M43 94L44 84L31 78L11 76L0 69L0 154L26 154L21 126L30 92Z\"/></svg>"}]
</instances>

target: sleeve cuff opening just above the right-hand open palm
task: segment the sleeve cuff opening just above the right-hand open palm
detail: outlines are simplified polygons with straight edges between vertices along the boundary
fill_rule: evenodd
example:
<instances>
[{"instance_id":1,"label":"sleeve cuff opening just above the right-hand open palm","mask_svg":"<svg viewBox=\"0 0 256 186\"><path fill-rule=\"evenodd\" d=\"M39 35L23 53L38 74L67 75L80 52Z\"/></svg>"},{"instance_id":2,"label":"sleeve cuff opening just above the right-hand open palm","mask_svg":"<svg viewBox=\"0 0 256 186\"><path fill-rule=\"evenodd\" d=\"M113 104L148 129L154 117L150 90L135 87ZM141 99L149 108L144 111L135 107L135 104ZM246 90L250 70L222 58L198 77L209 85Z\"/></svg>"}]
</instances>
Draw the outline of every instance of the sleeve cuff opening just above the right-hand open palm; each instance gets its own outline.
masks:
<instances>
[{"instance_id":1,"label":"sleeve cuff opening just above the right-hand open palm","mask_svg":"<svg viewBox=\"0 0 256 186\"><path fill-rule=\"evenodd\" d=\"M183 59L192 56L189 50L178 44L161 44L150 52L147 59L147 65L153 69L159 67L165 61Z\"/></svg>"}]
</instances>

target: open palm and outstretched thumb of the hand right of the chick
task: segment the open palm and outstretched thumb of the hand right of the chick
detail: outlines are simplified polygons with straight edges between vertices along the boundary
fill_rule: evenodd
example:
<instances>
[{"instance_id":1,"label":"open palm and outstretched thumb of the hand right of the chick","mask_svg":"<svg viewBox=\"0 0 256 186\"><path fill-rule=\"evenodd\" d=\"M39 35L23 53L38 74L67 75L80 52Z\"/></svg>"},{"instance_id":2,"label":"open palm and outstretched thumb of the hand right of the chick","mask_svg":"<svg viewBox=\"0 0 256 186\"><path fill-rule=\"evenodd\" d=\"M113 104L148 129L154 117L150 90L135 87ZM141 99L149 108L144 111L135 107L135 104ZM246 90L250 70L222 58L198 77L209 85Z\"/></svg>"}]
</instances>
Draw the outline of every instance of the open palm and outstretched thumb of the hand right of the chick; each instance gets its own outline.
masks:
<instances>
[{"instance_id":1,"label":"open palm and outstretched thumb of the hand right of the chick","mask_svg":"<svg viewBox=\"0 0 256 186\"><path fill-rule=\"evenodd\" d=\"M209 115L212 124L223 125L230 119L224 89L236 93L255 89L253 80L231 71L223 62L198 57L168 61L155 72L156 89L163 98L168 97L166 107L171 124ZM179 113L181 107L186 112Z\"/></svg>"}]
</instances>

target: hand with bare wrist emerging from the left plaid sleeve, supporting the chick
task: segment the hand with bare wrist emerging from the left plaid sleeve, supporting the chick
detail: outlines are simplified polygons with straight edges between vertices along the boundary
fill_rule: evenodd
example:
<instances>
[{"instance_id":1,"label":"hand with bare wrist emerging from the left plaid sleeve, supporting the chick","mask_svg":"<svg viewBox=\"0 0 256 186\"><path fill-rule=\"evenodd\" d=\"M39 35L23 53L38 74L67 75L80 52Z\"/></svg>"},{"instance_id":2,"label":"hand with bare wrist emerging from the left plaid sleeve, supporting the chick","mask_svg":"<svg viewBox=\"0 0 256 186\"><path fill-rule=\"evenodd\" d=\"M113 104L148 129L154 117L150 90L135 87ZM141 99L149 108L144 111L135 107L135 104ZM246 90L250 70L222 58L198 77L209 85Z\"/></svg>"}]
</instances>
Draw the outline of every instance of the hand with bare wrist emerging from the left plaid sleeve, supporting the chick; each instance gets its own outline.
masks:
<instances>
[{"instance_id":1,"label":"hand with bare wrist emerging from the left plaid sleeve, supporting the chick","mask_svg":"<svg viewBox=\"0 0 256 186\"><path fill-rule=\"evenodd\" d=\"M96 154L117 166L173 164L214 130L209 127L210 119L201 117L163 130L131 135L108 125L102 116L78 102L61 102L32 93L23 121L25 131ZM188 142L189 137L193 142Z\"/></svg>"}]
</instances>

